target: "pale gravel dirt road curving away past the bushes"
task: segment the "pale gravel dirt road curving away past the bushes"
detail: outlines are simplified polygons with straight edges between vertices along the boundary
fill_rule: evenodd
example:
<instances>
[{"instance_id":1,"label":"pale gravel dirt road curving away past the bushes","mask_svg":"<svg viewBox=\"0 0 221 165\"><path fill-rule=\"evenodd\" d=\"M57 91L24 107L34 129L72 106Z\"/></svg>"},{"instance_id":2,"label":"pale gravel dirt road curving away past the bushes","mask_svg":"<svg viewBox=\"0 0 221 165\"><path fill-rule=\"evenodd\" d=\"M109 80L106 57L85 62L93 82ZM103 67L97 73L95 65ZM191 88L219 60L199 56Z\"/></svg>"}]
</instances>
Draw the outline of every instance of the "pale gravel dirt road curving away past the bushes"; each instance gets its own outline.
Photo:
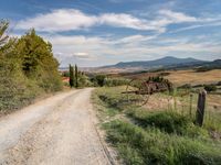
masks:
<instances>
[{"instance_id":1,"label":"pale gravel dirt road curving away past the bushes","mask_svg":"<svg viewBox=\"0 0 221 165\"><path fill-rule=\"evenodd\" d=\"M0 119L0 164L105 165L90 96L80 89Z\"/></svg>"}]
</instances>

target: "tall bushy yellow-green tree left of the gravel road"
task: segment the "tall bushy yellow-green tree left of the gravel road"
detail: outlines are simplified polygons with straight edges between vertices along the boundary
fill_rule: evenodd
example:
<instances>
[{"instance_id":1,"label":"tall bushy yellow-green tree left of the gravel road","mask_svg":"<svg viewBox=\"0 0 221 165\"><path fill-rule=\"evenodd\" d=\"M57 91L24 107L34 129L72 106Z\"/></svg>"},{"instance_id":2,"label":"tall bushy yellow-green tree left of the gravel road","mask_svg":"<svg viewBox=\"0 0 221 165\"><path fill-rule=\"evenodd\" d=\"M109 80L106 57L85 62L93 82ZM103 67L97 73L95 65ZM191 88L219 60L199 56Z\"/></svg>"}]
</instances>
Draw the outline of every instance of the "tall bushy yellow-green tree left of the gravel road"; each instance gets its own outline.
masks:
<instances>
[{"instance_id":1,"label":"tall bushy yellow-green tree left of the gravel road","mask_svg":"<svg viewBox=\"0 0 221 165\"><path fill-rule=\"evenodd\" d=\"M34 30L18 40L17 57L21 61L23 74L45 91L62 88L59 62L53 56L52 44L45 42Z\"/></svg>"}]
</instances>

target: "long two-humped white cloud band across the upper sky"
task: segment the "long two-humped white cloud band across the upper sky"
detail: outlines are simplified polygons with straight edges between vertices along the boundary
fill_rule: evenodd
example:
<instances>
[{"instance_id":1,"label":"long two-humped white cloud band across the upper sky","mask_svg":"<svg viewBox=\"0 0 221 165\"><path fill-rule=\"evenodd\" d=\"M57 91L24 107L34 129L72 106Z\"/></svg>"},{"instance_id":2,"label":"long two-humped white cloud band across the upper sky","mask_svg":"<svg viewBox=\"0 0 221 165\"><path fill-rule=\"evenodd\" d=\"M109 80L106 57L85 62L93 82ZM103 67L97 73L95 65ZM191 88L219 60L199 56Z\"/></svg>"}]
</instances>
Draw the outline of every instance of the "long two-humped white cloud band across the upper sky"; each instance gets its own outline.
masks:
<instances>
[{"instance_id":1,"label":"long two-humped white cloud band across the upper sky","mask_svg":"<svg viewBox=\"0 0 221 165\"><path fill-rule=\"evenodd\" d=\"M46 14L39 14L35 18L20 21L17 29L28 30L34 28L38 31L60 32L82 30L99 24L135 30L156 30L154 26L148 25L146 20L130 14L104 13L101 15L90 15L75 9L60 9Z\"/></svg>"}]
</instances>

